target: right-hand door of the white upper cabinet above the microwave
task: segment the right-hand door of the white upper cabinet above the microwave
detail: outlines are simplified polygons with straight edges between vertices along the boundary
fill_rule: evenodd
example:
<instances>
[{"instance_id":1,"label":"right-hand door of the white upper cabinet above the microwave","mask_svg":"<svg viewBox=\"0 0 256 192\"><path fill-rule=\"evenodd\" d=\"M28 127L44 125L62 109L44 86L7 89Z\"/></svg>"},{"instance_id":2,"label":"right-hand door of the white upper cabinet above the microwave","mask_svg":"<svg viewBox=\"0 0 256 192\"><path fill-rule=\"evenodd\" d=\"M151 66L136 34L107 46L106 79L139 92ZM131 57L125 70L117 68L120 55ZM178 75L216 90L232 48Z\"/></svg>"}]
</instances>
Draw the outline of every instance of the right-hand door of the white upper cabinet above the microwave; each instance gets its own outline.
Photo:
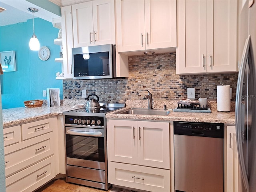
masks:
<instances>
[{"instance_id":1,"label":"right-hand door of the white upper cabinet above the microwave","mask_svg":"<svg viewBox=\"0 0 256 192\"><path fill-rule=\"evenodd\" d=\"M92 2L94 45L116 44L114 0Z\"/></svg>"}]
</instances>

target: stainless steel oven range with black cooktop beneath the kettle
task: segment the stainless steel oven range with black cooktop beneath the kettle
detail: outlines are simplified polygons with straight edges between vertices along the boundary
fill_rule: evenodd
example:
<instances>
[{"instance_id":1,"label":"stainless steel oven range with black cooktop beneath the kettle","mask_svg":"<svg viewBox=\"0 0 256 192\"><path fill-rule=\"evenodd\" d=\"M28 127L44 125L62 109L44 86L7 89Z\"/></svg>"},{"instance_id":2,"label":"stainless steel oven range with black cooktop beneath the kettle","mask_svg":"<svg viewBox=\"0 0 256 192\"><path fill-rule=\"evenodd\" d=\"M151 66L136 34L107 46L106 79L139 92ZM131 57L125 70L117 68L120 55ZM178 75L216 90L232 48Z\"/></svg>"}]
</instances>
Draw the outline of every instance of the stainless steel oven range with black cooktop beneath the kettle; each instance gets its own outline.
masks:
<instances>
[{"instance_id":1,"label":"stainless steel oven range with black cooktop beneath the kettle","mask_svg":"<svg viewBox=\"0 0 256 192\"><path fill-rule=\"evenodd\" d=\"M125 104L100 104L98 110L79 108L63 112L66 145L66 181L108 190L106 117Z\"/></svg>"}]
</instances>

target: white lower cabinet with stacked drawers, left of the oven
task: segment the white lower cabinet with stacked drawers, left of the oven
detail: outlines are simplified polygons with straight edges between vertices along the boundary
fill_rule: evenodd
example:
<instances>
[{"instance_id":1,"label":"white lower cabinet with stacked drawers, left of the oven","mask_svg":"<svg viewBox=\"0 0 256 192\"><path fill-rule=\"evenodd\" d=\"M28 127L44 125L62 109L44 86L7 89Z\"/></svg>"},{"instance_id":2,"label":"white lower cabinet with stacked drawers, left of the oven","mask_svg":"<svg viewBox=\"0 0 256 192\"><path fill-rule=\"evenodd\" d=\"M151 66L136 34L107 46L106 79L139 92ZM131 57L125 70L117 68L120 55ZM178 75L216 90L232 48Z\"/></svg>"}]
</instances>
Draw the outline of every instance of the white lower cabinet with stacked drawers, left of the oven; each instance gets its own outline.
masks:
<instances>
[{"instance_id":1,"label":"white lower cabinet with stacked drawers, left of the oven","mask_svg":"<svg viewBox=\"0 0 256 192\"><path fill-rule=\"evenodd\" d=\"M57 117L4 128L6 192L32 192L58 174L57 131Z\"/></svg>"}]
</instances>

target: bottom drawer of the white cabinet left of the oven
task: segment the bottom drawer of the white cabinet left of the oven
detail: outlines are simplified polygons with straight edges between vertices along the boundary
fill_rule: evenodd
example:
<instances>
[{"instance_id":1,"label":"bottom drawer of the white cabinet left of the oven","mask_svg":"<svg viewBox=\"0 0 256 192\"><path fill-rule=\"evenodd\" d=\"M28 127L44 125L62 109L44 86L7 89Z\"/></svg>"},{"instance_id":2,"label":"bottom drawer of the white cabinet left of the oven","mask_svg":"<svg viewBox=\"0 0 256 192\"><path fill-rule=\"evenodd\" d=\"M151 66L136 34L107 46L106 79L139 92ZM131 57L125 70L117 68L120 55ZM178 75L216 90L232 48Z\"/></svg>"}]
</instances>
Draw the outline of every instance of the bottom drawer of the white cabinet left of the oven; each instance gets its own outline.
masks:
<instances>
[{"instance_id":1,"label":"bottom drawer of the white cabinet left of the oven","mask_svg":"<svg viewBox=\"0 0 256 192\"><path fill-rule=\"evenodd\" d=\"M55 177L54 156L6 178L6 192L33 191Z\"/></svg>"}]
</instances>

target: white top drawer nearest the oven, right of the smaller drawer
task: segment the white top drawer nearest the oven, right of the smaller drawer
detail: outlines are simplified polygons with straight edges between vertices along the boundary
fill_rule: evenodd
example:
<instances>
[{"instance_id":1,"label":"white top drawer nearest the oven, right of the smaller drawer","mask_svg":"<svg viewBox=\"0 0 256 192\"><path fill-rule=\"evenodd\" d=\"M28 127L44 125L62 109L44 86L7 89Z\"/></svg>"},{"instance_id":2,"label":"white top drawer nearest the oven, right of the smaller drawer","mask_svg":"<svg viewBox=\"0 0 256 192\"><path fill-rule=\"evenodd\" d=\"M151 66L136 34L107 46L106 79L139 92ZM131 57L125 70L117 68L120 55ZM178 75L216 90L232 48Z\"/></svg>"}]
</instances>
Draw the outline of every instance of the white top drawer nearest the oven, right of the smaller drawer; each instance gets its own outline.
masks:
<instances>
[{"instance_id":1,"label":"white top drawer nearest the oven, right of the smaller drawer","mask_svg":"<svg viewBox=\"0 0 256 192\"><path fill-rule=\"evenodd\" d=\"M51 132L53 130L53 126L53 118L22 124L22 140Z\"/></svg>"}]
</instances>

